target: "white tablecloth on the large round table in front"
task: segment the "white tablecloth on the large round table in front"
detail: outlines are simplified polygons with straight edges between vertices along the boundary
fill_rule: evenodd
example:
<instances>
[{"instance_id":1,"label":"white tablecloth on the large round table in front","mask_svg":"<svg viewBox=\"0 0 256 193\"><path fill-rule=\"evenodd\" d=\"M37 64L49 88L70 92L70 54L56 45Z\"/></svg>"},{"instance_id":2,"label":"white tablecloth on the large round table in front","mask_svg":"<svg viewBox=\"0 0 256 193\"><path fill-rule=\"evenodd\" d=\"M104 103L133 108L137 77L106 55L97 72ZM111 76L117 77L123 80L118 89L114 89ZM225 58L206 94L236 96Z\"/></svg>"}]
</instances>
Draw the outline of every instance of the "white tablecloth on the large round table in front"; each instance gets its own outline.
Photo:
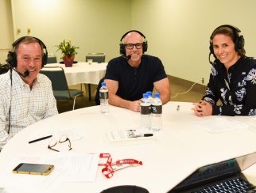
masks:
<instances>
[{"instance_id":1,"label":"white tablecloth on the large round table in front","mask_svg":"<svg viewBox=\"0 0 256 193\"><path fill-rule=\"evenodd\" d=\"M180 110L177 111L177 105ZM114 172L111 179L103 176L99 166L94 182L67 182L56 192L100 192L118 185L145 187L150 193L169 191L184 180L196 168L256 151L255 127L212 134L196 123L219 119L250 123L251 117L208 116L196 117L191 103L169 102L163 106L163 131L155 133L154 142L126 146L111 146L107 131L137 129L140 113L110 106L108 114L99 113L99 106L81 108L72 112L44 119L19 132L6 144L0 153L0 173L18 153L52 153L47 146L29 144L29 137L41 131L81 129L83 138L72 142L73 153L111 153L113 161L132 158L143 165ZM248 171L256 176L256 166ZM53 171L54 172L54 171ZM12 179L10 179L12 180Z\"/></svg>"}]
</instances>

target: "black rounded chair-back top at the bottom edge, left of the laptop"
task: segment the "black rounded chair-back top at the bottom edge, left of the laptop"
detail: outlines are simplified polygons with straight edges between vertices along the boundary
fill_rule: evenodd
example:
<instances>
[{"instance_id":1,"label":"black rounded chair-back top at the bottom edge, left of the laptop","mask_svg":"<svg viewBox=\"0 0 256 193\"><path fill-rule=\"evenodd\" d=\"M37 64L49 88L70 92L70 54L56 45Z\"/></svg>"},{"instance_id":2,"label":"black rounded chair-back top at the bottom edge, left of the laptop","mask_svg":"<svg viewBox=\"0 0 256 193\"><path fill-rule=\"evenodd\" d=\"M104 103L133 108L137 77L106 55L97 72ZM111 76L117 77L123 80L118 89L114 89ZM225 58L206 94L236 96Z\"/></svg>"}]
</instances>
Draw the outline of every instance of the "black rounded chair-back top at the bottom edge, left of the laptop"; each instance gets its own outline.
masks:
<instances>
[{"instance_id":1,"label":"black rounded chair-back top at the bottom edge, left of the laptop","mask_svg":"<svg viewBox=\"0 0 256 193\"><path fill-rule=\"evenodd\" d=\"M149 193L144 187L138 187L133 185L123 185L117 187L110 187L107 190L103 190L100 193Z\"/></svg>"}]
</instances>

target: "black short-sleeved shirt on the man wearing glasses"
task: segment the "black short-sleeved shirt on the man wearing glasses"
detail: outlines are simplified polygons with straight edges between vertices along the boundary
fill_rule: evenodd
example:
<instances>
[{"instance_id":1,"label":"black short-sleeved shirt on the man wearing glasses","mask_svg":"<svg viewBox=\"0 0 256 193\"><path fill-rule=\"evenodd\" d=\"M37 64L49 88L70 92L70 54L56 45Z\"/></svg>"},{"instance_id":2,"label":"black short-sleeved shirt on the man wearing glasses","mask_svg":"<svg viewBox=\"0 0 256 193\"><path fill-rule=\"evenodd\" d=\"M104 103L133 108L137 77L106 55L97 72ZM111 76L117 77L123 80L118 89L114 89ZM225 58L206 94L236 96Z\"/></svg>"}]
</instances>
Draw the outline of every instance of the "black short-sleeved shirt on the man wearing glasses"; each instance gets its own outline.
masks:
<instances>
[{"instance_id":1,"label":"black short-sleeved shirt on the man wearing glasses","mask_svg":"<svg viewBox=\"0 0 256 193\"><path fill-rule=\"evenodd\" d=\"M111 59L107 65L105 79L118 81L116 95L126 100L142 99L143 93L153 91L153 82L167 78L160 59L151 55L142 55L138 68L130 66L121 56Z\"/></svg>"}]
</instances>

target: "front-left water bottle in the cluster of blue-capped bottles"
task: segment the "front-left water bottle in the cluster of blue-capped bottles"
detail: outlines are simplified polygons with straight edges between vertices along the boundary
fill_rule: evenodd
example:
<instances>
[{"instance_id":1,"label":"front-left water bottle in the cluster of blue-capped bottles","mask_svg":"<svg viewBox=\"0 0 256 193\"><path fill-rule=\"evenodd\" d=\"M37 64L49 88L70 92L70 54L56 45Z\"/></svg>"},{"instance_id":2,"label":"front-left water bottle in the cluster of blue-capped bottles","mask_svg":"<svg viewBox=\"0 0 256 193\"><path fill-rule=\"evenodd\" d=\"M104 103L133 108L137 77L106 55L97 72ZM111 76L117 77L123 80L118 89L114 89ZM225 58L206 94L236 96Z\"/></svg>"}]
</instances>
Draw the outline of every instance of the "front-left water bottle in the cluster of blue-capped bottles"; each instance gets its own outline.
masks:
<instances>
[{"instance_id":1,"label":"front-left water bottle in the cluster of blue-capped bottles","mask_svg":"<svg viewBox=\"0 0 256 193\"><path fill-rule=\"evenodd\" d=\"M141 129L150 129L151 125L151 104L149 102L148 95L143 94L141 102Z\"/></svg>"}]
</instances>

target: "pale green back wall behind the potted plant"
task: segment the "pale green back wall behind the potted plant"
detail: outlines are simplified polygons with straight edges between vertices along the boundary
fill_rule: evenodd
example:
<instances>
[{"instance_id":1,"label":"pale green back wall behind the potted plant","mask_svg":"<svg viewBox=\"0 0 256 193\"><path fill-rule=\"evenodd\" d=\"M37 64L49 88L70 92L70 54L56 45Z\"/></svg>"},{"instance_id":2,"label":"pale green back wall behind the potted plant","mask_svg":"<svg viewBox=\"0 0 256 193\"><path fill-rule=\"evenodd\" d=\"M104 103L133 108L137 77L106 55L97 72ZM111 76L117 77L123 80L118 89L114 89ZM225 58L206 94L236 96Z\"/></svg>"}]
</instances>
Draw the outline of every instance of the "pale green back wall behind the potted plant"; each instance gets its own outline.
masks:
<instances>
[{"instance_id":1,"label":"pale green back wall behind the potted plant","mask_svg":"<svg viewBox=\"0 0 256 193\"><path fill-rule=\"evenodd\" d=\"M119 55L119 39L130 29L130 4L130 0L12 0L15 39L36 36L60 61L54 46L71 38L80 47L76 61L85 61L87 52L105 52L108 61Z\"/></svg>"}]
</instances>

